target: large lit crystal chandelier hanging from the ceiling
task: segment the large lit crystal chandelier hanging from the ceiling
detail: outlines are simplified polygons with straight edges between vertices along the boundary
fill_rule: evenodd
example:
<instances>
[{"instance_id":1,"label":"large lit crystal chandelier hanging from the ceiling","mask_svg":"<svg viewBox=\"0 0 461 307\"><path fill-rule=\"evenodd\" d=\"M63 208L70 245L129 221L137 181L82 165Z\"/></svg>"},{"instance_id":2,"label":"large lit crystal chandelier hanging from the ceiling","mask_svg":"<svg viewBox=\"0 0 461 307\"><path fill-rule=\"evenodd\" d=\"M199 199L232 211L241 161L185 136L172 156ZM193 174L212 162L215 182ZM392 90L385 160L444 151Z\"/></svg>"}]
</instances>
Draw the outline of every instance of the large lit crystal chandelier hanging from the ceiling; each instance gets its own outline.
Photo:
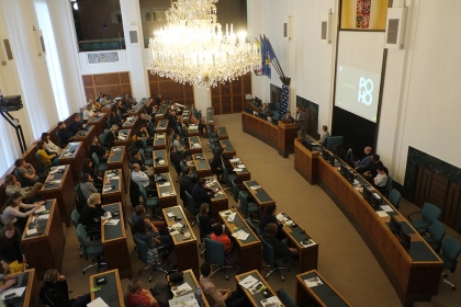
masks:
<instances>
[{"instance_id":1,"label":"large lit crystal chandelier hanging from the ceiling","mask_svg":"<svg viewBox=\"0 0 461 307\"><path fill-rule=\"evenodd\" d=\"M257 46L246 34L217 23L217 0L178 0L166 12L167 25L149 42L153 75L176 82L216 87L261 67Z\"/></svg>"}]
</instances>

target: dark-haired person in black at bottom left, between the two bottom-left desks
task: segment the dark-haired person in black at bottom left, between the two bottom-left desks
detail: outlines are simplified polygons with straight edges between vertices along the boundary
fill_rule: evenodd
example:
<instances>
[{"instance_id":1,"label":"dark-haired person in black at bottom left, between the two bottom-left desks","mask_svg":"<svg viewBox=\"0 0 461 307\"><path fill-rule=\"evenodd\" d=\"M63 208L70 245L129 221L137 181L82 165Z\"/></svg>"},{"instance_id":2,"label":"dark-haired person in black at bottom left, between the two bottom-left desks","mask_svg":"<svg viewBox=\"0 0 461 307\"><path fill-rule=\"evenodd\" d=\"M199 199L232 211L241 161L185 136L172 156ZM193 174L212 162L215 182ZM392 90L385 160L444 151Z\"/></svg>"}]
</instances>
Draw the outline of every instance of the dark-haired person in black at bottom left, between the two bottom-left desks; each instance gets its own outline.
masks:
<instances>
[{"instance_id":1,"label":"dark-haired person in black at bottom left, between the two bottom-left desks","mask_svg":"<svg viewBox=\"0 0 461 307\"><path fill-rule=\"evenodd\" d=\"M56 269L50 269L46 271L43 278L40 299L42 304L47 306L83 307L91 303L91 295L87 293L69 298L69 286L66 277L60 275Z\"/></svg>"}]
</instances>

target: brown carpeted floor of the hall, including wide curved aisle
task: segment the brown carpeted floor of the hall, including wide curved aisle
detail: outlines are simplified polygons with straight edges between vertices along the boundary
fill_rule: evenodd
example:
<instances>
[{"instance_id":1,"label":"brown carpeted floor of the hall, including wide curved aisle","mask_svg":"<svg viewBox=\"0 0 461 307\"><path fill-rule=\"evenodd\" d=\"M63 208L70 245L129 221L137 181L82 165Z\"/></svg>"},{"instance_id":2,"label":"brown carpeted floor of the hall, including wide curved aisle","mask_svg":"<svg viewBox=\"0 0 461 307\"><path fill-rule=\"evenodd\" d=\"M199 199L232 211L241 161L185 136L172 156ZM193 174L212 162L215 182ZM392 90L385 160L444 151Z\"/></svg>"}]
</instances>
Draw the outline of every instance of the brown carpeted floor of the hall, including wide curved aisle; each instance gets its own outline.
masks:
<instances>
[{"instance_id":1,"label":"brown carpeted floor of the hall, including wide curved aisle","mask_svg":"<svg viewBox=\"0 0 461 307\"><path fill-rule=\"evenodd\" d=\"M374 259L367 245L358 235L353 226L335 205L335 203L317 185L311 185L305 181L293 167L293 155L283 159L276 149L265 143L243 133L240 114L215 116L216 126L225 126L229 135L237 156L241 158L251 179L268 192L276 200L279 212L288 212L300 226L312 236L319 245L318 272L352 305L352 306L402 306L393 286L382 271L380 264ZM202 138L205 155L211 157L206 150L206 139ZM171 169L171 173L175 171ZM179 192L179 184L176 183ZM229 196L229 206L234 205L234 200ZM130 197L126 196L127 213L132 215ZM178 204L181 201L178 197ZM406 215L418 211L418 207L403 200L401 212ZM195 225L194 232L199 229ZM81 269L90 261L79 258L79 245L74 227L65 229L66 247L63 264L63 274L66 275L69 289L75 294L89 292L89 276L95 273L89 270L85 275ZM447 235L453 236L461 241L461 236L447 228ZM139 277L142 285L150 287L157 281L162 280L162 275L156 274L153 284L148 283L148 272L138 275L137 270L143 268L143 263L137 259L134 250L134 242L127 230L128 250L132 262L133 276ZM170 255L170 265L175 263L176 252ZM200 258L200 261L204 261ZM297 260L288 263L290 272L283 271L285 281L282 282L278 274L272 274L268 282L273 289L284 288L295 297L295 278L297 272ZM268 271L262 271L266 274ZM449 280L454 284L461 285L461 270L449 273ZM224 274L217 273L214 282L217 287L236 288L235 272L227 271L229 281L224 278ZM126 288L127 280L122 280L123 289ZM432 303L419 306L460 306L460 291L452 291L445 283L440 284L439 294L432 297ZM418 304L415 304L417 306Z\"/></svg>"}]
</instances>

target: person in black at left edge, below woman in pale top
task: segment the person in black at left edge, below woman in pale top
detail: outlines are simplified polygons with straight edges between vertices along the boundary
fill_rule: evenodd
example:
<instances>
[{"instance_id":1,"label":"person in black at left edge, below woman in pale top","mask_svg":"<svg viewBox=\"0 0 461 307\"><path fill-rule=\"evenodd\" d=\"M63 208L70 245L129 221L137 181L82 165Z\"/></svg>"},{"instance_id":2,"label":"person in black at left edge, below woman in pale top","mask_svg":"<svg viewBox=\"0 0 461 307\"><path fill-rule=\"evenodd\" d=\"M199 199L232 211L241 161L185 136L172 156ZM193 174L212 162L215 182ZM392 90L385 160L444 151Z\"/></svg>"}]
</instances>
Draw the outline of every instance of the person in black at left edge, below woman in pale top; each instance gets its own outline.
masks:
<instances>
[{"instance_id":1,"label":"person in black at left edge, below woman in pale top","mask_svg":"<svg viewBox=\"0 0 461 307\"><path fill-rule=\"evenodd\" d=\"M4 224L0 232L0 255L3 266L10 273L21 272L26 263L24 250L21 245L21 230L13 224Z\"/></svg>"}]
</instances>

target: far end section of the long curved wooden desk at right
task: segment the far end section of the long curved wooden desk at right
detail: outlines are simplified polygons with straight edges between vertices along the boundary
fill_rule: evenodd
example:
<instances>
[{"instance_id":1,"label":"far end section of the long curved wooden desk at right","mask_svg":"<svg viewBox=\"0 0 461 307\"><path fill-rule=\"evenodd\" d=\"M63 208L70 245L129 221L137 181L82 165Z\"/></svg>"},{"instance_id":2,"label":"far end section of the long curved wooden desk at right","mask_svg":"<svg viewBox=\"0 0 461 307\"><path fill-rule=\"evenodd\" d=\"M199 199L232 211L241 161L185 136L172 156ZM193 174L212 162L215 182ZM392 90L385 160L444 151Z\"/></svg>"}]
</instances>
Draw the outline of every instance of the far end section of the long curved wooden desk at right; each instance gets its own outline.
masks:
<instances>
[{"instance_id":1,"label":"far end section of the long curved wooden desk at right","mask_svg":"<svg viewBox=\"0 0 461 307\"><path fill-rule=\"evenodd\" d=\"M318 156L321 152L308 150L301 139L294 140L294 169L311 184L318 183Z\"/></svg>"}]
</instances>

